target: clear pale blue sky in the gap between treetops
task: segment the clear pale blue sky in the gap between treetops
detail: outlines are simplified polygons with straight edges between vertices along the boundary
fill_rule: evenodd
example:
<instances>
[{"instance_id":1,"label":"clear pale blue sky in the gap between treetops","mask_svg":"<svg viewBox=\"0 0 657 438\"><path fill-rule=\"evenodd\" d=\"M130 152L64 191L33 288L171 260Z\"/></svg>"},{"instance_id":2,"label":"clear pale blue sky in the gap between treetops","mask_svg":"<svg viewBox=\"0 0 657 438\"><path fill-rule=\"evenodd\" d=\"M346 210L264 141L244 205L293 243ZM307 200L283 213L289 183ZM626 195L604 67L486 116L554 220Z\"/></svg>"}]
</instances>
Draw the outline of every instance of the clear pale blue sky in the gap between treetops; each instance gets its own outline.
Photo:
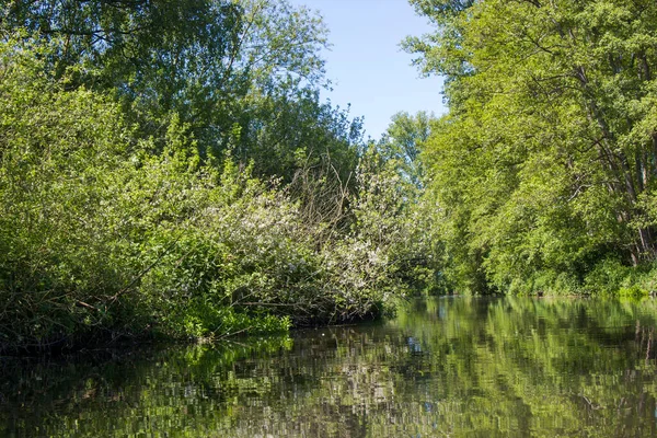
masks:
<instances>
[{"instance_id":1,"label":"clear pale blue sky in the gap between treetops","mask_svg":"<svg viewBox=\"0 0 657 438\"><path fill-rule=\"evenodd\" d=\"M390 117L406 111L442 114L441 81L419 78L413 56L400 48L407 35L431 27L406 0L290 0L319 11L331 34L324 54L334 105L351 104L353 116L365 116L367 135L378 139Z\"/></svg>"}]
</instances>

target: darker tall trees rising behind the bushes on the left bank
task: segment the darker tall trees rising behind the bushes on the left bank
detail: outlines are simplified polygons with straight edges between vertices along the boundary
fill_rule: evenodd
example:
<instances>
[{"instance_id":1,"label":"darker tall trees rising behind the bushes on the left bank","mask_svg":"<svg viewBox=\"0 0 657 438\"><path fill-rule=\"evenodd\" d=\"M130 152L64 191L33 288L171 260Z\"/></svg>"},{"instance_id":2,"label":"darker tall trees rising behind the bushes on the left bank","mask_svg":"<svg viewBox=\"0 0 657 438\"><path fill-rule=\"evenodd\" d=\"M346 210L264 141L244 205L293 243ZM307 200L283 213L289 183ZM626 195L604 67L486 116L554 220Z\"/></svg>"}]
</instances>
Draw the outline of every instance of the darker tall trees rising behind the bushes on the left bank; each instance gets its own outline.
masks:
<instances>
[{"instance_id":1,"label":"darker tall trees rising behind the bushes on the left bank","mask_svg":"<svg viewBox=\"0 0 657 438\"><path fill-rule=\"evenodd\" d=\"M255 161L257 176L286 182L320 159L330 158L343 181L355 170L360 122L319 100L327 31L307 8L287 0L47 0L9 2L0 16L3 35L24 28L54 44L48 74L71 89L112 93L137 124L135 135L160 150L175 113L201 159L232 149L244 165Z\"/></svg>"}]
</instances>

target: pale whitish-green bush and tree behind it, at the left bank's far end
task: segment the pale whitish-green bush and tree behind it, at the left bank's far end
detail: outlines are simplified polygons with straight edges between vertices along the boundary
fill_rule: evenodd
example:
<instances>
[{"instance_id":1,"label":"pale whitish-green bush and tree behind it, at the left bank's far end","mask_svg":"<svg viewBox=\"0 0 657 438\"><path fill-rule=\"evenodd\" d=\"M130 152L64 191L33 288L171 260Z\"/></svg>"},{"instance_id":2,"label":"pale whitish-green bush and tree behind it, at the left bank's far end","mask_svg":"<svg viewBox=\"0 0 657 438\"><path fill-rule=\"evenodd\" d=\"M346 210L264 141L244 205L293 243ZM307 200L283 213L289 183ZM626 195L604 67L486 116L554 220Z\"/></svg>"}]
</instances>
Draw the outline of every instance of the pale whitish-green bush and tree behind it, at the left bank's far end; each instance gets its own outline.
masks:
<instances>
[{"instance_id":1,"label":"pale whitish-green bush and tree behind it, at the left bank's far end","mask_svg":"<svg viewBox=\"0 0 657 438\"><path fill-rule=\"evenodd\" d=\"M381 283L377 289L387 295L402 290L433 293L446 287L437 274L439 241L431 206L422 197L419 151L429 134L428 123L425 113L395 115L388 134L370 143L360 160L360 192L345 251L350 256L339 258L376 273L378 278L373 278ZM350 261L356 254L364 261Z\"/></svg>"}]
</instances>

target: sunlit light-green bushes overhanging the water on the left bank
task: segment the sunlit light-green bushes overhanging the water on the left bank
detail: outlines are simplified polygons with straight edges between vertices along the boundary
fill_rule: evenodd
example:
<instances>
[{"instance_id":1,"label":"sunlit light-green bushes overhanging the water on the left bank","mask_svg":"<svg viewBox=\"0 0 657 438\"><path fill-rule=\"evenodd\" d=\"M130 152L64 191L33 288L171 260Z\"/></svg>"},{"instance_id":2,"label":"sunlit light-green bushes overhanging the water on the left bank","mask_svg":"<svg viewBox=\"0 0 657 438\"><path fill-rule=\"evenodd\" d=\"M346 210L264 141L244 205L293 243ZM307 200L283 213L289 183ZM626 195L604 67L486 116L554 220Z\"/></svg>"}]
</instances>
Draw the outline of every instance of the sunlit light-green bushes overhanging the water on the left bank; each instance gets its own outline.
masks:
<instances>
[{"instance_id":1,"label":"sunlit light-green bushes overhanging the water on the left bank","mask_svg":"<svg viewBox=\"0 0 657 438\"><path fill-rule=\"evenodd\" d=\"M343 281L354 267L336 268L333 224L304 221L253 166L204 165L176 113L152 153L110 96L44 74L57 47L0 46L0 348L211 338L383 310L378 284Z\"/></svg>"}]
</instances>

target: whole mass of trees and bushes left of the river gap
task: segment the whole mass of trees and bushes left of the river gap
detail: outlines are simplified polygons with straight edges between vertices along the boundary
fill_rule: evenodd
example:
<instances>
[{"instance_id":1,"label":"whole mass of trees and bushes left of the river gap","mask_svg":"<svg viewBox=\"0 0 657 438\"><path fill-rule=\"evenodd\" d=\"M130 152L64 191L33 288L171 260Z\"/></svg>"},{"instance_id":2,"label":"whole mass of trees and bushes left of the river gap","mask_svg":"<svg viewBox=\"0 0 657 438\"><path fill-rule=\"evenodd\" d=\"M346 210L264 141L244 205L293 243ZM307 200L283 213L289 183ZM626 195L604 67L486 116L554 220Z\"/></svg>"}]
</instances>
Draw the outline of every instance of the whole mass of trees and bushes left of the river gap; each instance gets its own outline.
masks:
<instances>
[{"instance_id":1,"label":"whole mass of trees and bushes left of the river gap","mask_svg":"<svg viewBox=\"0 0 657 438\"><path fill-rule=\"evenodd\" d=\"M0 350L373 318L437 278L417 145L319 96L286 0L0 9ZM424 132L424 134L423 134Z\"/></svg>"}]
</instances>

